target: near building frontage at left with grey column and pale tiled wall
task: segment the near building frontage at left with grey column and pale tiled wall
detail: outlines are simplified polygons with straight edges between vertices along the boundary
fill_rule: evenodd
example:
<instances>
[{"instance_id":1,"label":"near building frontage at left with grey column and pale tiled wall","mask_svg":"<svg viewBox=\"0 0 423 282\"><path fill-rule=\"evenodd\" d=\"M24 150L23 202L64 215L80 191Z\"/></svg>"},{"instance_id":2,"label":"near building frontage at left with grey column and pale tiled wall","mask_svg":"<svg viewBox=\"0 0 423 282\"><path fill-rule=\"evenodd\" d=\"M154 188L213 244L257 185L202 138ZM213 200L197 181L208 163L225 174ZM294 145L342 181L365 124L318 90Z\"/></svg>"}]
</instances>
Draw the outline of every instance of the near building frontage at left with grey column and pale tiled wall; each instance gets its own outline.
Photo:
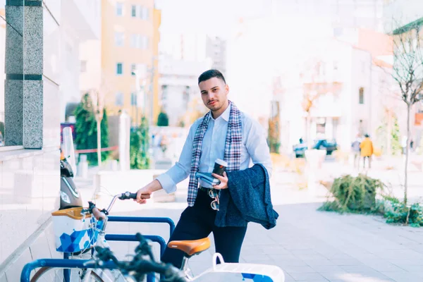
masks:
<instances>
[{"instance_id":1,"label":"near building frontage at left with grey column and pale tiled wall","mask_svg":"<svg viewBox=\"0 0 423 282\"><path fill-rule=\"evenodd\" d=\"M95 37L97 4L33 0L0 6L7 35L0 31L5 145L0 147L0 281L20 281L24 264L56 257L51 212L59 208L61 110L68 95L79 95L73 85L79 76L78 44Z\"/></svg>"}]
</instances>

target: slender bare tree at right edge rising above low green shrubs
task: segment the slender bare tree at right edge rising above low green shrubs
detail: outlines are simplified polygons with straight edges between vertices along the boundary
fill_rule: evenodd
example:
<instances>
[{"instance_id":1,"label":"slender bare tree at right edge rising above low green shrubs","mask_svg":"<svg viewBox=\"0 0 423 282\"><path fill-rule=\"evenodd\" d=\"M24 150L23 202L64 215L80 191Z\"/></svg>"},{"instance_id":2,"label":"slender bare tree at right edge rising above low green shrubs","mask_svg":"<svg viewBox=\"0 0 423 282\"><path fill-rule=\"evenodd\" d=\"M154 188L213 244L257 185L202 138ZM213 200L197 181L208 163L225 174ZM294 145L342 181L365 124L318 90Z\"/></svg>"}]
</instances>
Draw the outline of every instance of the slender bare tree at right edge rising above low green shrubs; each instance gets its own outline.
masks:
<instances>
[{"instance_id":1,"label":"slender bare tree at right edge rising above low green shrubs","mask_svg":"<svg viewBox=\"0 0 423 282\"><path fill-rule=\"evenodd\" d=\"M393 30L393 72L400 98L407 106L407 145L405 146L404 204L407 205L407 169L410 151L410 115L412 106L422 99L423 50L420 46L421 23L410 23Z\"/></svg>"}]
</instances>

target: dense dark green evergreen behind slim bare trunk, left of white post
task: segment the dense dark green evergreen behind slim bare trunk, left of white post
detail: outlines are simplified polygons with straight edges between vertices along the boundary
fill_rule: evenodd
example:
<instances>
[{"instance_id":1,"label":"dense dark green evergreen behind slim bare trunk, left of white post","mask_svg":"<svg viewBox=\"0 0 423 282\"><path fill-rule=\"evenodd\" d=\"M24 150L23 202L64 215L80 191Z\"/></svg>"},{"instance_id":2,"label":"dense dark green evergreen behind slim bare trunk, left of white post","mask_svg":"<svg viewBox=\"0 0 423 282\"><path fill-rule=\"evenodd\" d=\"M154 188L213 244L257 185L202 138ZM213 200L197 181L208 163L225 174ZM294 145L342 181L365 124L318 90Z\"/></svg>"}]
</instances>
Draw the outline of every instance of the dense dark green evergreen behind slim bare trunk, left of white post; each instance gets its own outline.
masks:
<instances>
[{"instance_id":1,"label":"dense dark green evergreen behind slim bare trunk, left of white post","mask_svg":"<svg viewBox=\"0 0 423 282\"><path fill-rule=\"evenodd\" d=\"M82 96L80 104L75 109L75 130L76 139L75 147L77 149L97 149L97 121L94 115L94 107L90 94ZM101 142L102 147L109 146L109 125L107 124L106 109L103 109L103 116L100 130L102 130ZM102 152L101 158L105 160L109 156L109 152ZM98 164L98 156L96 153L87 153L87 160L91 165Z\"/></svg>"}]
</instances>

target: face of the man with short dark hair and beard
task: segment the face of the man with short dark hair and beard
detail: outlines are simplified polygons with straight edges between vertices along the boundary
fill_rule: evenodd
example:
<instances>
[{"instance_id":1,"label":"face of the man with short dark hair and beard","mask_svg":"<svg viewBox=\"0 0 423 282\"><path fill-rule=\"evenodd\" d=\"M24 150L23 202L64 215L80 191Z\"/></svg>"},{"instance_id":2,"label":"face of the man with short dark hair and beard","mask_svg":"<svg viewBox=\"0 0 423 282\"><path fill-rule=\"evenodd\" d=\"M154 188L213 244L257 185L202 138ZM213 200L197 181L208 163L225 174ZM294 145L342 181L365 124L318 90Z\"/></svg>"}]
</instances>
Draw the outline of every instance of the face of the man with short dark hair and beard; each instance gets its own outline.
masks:
<instances>
[{"instance_id":1,"label":"face of the man with short dark hair and beard","mask_svg":"<svg viewBox=\"0 0 423 282\"><path fill-rule=\"evenodd\" d=\"M228 100L229 87L219 78L200 82L201 98L211 111L219 111Z\"/></svg>"}]
</instances>

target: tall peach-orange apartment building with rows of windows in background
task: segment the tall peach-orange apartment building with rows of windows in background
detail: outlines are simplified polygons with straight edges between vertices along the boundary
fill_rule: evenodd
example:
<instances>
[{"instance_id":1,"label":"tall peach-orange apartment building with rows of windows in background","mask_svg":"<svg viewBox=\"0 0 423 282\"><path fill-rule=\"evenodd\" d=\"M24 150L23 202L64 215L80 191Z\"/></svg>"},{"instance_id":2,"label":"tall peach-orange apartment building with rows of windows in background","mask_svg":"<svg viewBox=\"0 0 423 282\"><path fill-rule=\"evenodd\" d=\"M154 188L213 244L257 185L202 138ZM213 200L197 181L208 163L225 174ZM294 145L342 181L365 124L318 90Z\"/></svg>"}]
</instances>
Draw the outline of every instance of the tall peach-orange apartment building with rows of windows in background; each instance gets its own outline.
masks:
<instances>
[{"instance_id":1,"label":"tall peach-orange apartment building with rows of windows in background","mask_svg":"<svg viewBox=\"0 0 423 282\"><path fill-rule=\"evenodd\" d=\"M102 1L100 92L108 114L157 119L161 13L154 0Z\"/></svg>"}]
</instances>

